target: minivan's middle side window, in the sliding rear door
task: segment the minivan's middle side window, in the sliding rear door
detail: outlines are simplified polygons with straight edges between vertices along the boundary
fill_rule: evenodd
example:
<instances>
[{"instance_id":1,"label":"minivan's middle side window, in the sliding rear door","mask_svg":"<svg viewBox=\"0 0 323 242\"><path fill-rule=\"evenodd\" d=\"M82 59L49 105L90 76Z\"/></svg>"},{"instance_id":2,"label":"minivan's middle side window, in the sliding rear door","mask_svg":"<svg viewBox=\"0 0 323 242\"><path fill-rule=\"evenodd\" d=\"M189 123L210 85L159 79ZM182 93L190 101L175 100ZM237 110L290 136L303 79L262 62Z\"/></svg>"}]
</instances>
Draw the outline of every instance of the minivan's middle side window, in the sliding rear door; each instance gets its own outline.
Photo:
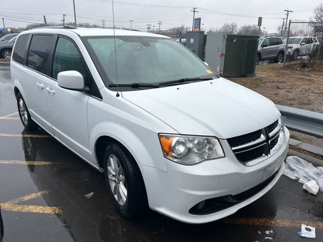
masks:
<instances>
[{"instance_id":1,"label":"minivan's middle side window, in the sliding rear door","mask_svg":"<svg viewBox=\"0 0 323 242\"><path fill-rule=\"evenodd\" d=\"M27 66L48 74L48 57L53 43L51 35L33 35L28 52Z\"/></svg>"}]
</instances>

